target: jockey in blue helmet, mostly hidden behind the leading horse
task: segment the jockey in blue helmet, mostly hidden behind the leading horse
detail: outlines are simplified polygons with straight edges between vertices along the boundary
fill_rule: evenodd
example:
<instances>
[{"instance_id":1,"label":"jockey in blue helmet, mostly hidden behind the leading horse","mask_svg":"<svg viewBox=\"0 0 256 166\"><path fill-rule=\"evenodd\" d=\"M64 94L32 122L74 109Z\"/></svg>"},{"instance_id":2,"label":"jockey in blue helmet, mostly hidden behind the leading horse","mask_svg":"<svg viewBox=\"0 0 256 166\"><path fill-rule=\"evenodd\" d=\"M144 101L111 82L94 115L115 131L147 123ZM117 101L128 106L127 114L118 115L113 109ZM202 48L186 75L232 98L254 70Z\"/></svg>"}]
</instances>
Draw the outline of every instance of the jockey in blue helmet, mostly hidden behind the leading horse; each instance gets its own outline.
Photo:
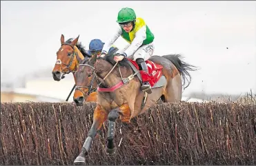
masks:
<instances>
[{"instance_id":1,"label":"jockey in blue helmet, mostly hidden behind the leading horse","mask_svg":"<svg viewBox=\"0 0 256 166\"><path fill-rule=\"evenodd\" d=\"M100 55L101 50L104 47L104 44L105 43L103 43L100 39L92 39L89 44L89 50L87 51L88 55L90 57L92 57L95 54ZM112 45L109 51L112 51L115 48L115 45Z\"/></svg>"}]
</instances>

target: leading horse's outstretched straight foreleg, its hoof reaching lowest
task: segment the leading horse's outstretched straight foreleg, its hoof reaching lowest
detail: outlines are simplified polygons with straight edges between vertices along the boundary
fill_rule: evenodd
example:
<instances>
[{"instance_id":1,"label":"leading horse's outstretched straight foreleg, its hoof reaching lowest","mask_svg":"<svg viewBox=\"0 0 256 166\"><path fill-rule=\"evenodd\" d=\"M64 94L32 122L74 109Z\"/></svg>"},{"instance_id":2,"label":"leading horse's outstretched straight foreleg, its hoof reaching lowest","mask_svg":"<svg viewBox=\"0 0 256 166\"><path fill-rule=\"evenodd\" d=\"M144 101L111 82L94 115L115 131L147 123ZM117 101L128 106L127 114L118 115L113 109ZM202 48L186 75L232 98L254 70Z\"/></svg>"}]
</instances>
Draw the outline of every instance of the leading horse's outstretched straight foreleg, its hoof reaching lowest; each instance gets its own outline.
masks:
<instances>
[{"instance_id":1,"label":"leading horse's outstretched straight foreleg, its hoof reaching lowest","mask_svg":"<svg viewBox=\"0 0 256 166\"><path fill-rule=\"evenodd\" d=\"M97 130L101 128L104 121L106 121L107 113L104 109L101 108L100 105L97 105L95 111L93 112L93 123L92 127L90 127L90 131L88 133L88 137L86 141L83 143L83 147L81 149L81 153L75 159L74 163L85 163L85 157L89 152L90 146L92 145L92 140L95 138L97 134Z\"/></svg>"}]
</instances>

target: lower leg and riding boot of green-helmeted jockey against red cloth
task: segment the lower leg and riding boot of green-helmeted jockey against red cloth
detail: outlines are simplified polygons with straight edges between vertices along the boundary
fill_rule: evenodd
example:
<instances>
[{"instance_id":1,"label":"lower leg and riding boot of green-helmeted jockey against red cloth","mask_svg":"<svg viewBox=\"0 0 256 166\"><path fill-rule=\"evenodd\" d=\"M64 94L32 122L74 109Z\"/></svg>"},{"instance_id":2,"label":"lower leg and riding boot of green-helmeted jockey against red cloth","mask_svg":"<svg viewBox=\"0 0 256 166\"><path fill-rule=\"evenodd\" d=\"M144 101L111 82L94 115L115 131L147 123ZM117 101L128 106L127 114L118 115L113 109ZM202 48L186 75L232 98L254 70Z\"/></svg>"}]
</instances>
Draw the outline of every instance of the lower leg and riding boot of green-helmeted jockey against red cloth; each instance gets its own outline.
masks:
<instances>
[{"instance_id":1,"label":"lower leg and riding boot of green-helmeted jockey against red cloth","mask_svg":"<svg viewBox=\"0 0 256 166\"><path fill-rule=\"evenodd\" d=\"M151 85L150 83L148 82L149 80L149 75L148 75L148 66L146 64L146 62L144 61L144 59L136 59L136 63L139 65L139 70L142 70L143 71L143 75L141 75L141 77L143 77L142 79L142 86L141 86L141 90L143 92L147 92L148 94L151 94L152 93L152 90L151 90Z\"/></svg>"}]
</instances>

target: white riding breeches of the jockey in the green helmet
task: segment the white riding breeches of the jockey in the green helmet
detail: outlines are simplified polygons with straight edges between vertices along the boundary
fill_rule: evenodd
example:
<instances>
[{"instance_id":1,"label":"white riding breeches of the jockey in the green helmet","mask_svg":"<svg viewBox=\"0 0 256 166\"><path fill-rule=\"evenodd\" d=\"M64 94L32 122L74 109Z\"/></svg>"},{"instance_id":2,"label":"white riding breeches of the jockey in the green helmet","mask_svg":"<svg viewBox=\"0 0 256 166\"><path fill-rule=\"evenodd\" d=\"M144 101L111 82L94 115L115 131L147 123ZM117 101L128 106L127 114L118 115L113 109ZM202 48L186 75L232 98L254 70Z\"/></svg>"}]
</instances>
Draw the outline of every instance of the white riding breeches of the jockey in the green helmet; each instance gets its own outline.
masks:
<instances>
[{"instance_id":1,"label":"white riding breeches of the jockey in the green helmet","mask_svg":"<svg viewBox=\"0 0 256 166\"><path fill-rule=\"evenodd\" d=\"M117 52L122 53L124 52L130 45L126 45L125 48L123 48L122 50L119 50ZM129 59L133 59L136 60L138 58L142 58L144 60L148 60L150 58L150 56L152 56L152 54L155 51L155 45L154 43L149 43L147 45L142 45L141 47L138 48L138 50L132 54L132 55L127 55L127 57Z\"/></svg>"}]
</instances>

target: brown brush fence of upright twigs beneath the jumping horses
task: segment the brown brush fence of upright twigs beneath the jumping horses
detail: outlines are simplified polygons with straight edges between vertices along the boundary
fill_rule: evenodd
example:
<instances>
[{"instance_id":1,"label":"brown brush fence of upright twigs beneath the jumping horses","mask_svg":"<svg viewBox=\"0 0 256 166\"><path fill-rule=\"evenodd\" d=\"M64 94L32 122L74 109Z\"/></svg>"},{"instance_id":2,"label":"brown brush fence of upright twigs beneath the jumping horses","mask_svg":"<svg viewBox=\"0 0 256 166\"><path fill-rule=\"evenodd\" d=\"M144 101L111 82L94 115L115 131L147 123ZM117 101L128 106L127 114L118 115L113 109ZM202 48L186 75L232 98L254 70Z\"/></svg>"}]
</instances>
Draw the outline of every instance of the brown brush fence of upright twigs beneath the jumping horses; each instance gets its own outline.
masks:
<instances>
[{"instance_id":1,"label":"brown brush fence of upright twigs beneath the jumping horses","mask_svg":"<svg viewBox=\"0 0 256 166\"><path fill-rule=\"evenodd\" d=\"M1 103L1 165L73 165L96 103ZM117 152L105 152L107 122L86 165L256 165L256 105L164 103L117 121Z\"/></svg>"}]
</instances>

